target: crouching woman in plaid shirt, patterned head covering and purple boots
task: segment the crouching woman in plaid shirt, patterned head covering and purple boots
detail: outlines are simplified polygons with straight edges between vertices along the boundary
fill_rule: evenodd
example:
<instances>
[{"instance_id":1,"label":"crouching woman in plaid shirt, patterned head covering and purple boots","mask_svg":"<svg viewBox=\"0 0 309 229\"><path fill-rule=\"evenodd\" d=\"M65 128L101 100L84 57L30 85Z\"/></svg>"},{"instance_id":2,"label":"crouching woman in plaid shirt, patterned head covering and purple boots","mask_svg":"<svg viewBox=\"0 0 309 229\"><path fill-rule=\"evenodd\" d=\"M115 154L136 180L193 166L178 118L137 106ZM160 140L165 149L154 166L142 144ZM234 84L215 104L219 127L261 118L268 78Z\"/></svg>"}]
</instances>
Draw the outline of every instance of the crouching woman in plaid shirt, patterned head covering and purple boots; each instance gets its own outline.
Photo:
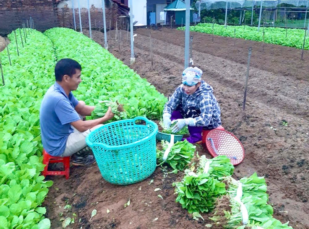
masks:
<instances>
[{"instance_id":1,"label":"crouching woman in plaid shirt, patterned head covering and purple boots","mask_svg":"<svg viewBox=\"0 0 309 229\"><path fill-rule=\"evenodd\" d=\"M213 94L213 88L201 80L203 72L197 67L189 67L182 73L182 84L177 87L164 105L163 123L170 127L171 121L176 125L172 132L177 133L188 125L190 143L202 140L203 129L209 130L221 125L220 107Z\"/></svg>"}]
</instances>

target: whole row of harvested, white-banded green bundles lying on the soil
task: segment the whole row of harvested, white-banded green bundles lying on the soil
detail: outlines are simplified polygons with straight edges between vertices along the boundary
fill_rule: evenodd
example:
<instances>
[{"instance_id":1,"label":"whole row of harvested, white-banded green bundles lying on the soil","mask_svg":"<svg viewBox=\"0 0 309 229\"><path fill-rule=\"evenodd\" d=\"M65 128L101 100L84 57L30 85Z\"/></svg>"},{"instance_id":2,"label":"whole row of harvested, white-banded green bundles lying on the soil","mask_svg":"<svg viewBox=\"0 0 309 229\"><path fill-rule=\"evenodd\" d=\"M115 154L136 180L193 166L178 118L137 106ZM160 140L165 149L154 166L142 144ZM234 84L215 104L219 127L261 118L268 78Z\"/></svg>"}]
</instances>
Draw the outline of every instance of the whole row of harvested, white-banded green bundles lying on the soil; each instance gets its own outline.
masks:
<instances>
[{"instance_id":1,"label":"whole row of harvested, white-banded green bundles lying on the soil","mask_svg":"<svg viewBox=\"0 0 309 229\"><path fill-rule=\"evenodd\" d=\"M184 171L180 182L174 182L176 202L193 214L210 213L211 228L227 229L292 229L273 218L273 207L268 204L267 185L264 177L256 173L239 181L232 178L234 166L226 156L207 159L195 154L195 146L187 140L172 145L163 160L168 142L162 141L157 150L159 164L169 164L172 172Z\"/></svg>"}]
</instances>

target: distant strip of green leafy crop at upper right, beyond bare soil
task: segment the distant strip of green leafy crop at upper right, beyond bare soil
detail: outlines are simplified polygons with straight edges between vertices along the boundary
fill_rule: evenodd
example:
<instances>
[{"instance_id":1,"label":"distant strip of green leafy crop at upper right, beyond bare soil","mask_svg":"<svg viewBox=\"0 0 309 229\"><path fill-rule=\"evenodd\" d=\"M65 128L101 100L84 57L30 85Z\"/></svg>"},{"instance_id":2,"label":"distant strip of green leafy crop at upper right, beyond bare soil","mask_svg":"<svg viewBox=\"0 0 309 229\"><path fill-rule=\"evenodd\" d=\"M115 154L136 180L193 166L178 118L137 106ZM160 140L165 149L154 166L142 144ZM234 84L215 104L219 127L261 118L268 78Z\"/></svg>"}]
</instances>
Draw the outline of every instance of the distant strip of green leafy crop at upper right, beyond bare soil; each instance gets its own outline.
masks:
<instances>
[{"instance_id":1,"label":"distant strip of green leafy crop at upper right, beyond bare soil","mask_svg":"<svg viewBox=\"0 0 309 229\"><path fill-rule=\"evenodd\" d=\"M184 27L178 29L184 30ZM251 26L224 26L212 23L199 23L195 27L190 27L191 31L197 31L201 33L208 33L218 36L243 38L246 40L263 41L269 44L278 44L293 48L303 48L304 34L303 29L285 29L278 27L261 27L260 30L257 27ZM305 49L309 49L309 39L305 41Z\"/></svg>"}]
</instances>

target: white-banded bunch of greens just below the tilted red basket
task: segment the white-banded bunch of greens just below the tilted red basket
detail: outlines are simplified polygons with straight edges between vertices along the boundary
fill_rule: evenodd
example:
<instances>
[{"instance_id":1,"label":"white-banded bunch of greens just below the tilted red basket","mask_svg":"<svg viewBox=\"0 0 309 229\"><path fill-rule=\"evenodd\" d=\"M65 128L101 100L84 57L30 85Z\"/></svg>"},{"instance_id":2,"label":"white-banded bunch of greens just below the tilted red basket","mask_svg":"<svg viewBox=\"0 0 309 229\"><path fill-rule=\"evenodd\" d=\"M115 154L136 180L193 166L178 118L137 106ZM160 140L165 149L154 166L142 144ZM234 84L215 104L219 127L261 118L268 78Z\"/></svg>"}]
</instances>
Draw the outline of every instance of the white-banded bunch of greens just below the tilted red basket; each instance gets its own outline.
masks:
<instances>
[{"instance_id":1,"label":"white-banded bunch of greens just below the tilted red basket","mask_svg":"<svg viewBox=\"0 0 309 229\"><path fill-rule=\"evenodd\" d=\"M205 155L202 155L199 158L196 171L198 174L210 173L212 177L215 177L218 180L231 176L233 172L234 166L231 164L231 160L225 155L216 156L212 159L207 159Z\"/></svg>"}]
</instances>

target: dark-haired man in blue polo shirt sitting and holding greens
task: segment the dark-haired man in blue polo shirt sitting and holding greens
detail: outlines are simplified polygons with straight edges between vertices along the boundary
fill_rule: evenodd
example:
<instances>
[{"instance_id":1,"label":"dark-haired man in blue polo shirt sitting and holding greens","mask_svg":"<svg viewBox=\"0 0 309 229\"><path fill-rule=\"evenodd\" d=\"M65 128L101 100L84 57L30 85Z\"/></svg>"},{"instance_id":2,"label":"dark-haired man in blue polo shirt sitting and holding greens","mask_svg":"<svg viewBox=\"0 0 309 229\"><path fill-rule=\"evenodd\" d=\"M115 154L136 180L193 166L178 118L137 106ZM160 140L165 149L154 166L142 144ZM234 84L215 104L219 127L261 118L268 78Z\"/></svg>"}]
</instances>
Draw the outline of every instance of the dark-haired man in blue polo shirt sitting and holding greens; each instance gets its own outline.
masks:
<instances>
[{"instance_id":1,"label":"dark-haired man in blue polo shirt sitting and holding greens","mask_svg":"<svg viewBox=\"0 0 309 229\"><path fill-rule=\"evenodd\" d=\"M78 101L72 91L82 82L81 65L72 59L61 59L55 66L56 82L44 95L40 107L42 144L52 156L71 156L75 165L89 165L95 162L92 151L86 144L86 137L102 123L112 119L109 107L104 117L83 120L91 115L94 106Z\"/></svg>"}]
</instances>

